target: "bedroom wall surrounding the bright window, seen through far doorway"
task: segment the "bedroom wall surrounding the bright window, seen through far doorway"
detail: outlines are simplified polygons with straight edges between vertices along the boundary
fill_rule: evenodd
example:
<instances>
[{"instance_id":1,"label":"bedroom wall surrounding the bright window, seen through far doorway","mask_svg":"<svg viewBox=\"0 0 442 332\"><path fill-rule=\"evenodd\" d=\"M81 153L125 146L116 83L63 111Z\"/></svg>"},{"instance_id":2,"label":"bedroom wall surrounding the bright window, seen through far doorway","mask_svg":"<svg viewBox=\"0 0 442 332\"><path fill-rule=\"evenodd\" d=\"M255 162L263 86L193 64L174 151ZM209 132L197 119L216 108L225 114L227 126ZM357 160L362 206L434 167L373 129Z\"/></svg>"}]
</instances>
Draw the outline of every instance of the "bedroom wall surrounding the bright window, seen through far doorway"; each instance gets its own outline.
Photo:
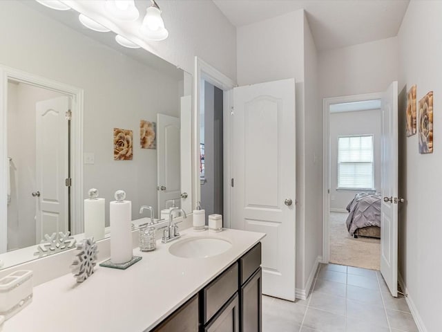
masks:
<instances>
[{"instance_id":1,"label":"bedroom wall surrounding the bright window, seen through far doorway","mask_svg":"<svg viewBox=\"0 0 442 332\"><path fill-rule=\"evenodd\" d=\"M381 110L330 114L330 209L345 210L358 191L338 187L338 136L374 135L374 187L381 191Z\"/></svg>"}]
</instances>

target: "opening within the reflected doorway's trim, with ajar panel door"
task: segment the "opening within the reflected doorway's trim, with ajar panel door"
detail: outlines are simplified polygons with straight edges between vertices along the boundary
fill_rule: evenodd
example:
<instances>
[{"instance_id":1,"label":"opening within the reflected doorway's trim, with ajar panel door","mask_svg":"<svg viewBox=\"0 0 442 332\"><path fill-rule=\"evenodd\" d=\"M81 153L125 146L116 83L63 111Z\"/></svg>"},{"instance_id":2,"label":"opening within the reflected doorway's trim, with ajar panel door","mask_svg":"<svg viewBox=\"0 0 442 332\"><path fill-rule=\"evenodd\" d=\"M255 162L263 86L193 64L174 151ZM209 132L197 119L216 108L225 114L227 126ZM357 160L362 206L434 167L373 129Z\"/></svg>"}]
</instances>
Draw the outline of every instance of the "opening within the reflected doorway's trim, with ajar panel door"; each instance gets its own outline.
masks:
<instances>
[{"instance_id":1,"label":"opening within the reflected doorway's trim, with ajar panel door","mask_svg":"<svg viewBox=\"0 0 442 332\"><path fill-rule=\"evenodd\" d=\"M8 80L8 251L70 231L69 109L62 93Z\"/></svg>"}]
</instances>

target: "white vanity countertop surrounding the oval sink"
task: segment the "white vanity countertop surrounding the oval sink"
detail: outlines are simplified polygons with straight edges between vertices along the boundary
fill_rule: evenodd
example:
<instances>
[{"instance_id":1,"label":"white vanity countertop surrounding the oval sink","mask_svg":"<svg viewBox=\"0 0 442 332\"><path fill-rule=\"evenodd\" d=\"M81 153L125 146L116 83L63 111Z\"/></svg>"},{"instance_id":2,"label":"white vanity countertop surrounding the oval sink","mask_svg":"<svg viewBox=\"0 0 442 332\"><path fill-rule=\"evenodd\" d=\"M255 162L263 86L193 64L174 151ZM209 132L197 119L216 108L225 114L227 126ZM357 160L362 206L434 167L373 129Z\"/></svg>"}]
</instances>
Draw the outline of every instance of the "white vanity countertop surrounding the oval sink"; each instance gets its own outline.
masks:
<instances>
[{"instance_id":1,"label":"white vanity countertop surrounding the oval sink","mask_svg":"<svg viewBox=\"0 0 442 332\"><path fill-rule=\"evenodd\" d=\"M230 229L215 233L188 228L181 234L170 243L158 240L153 252L135 248L133 254L143 258L127 270L97 264L81 284L64 275L35 287L32 303L6 321L3 332L150 331L265 237ZM232 246L202 259L169 253L173 243L191 237L218 237Z\"/></svg>"}]
</instances>

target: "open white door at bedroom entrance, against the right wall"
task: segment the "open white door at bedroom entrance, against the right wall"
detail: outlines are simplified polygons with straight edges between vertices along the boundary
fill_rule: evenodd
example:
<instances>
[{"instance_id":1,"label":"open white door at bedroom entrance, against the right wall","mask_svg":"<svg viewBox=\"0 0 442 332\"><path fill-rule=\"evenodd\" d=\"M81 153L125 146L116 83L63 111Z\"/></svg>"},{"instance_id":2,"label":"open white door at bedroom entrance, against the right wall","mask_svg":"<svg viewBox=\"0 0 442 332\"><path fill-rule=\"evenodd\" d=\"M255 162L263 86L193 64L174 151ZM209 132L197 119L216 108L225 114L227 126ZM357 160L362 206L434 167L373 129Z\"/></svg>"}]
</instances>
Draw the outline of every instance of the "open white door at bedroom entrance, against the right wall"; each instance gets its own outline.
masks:
<instances>
[{"instance_id":1,"label":"open white door at bedroom entrance, against the right wall","mask_svg":"<svg viewBox=\"0 0 442 332\"><path fill-rule=\"evenodd\" d=\"M398 295L398 82L383 94L381 157L381 273Z\"/></svg>"}]
</instances>

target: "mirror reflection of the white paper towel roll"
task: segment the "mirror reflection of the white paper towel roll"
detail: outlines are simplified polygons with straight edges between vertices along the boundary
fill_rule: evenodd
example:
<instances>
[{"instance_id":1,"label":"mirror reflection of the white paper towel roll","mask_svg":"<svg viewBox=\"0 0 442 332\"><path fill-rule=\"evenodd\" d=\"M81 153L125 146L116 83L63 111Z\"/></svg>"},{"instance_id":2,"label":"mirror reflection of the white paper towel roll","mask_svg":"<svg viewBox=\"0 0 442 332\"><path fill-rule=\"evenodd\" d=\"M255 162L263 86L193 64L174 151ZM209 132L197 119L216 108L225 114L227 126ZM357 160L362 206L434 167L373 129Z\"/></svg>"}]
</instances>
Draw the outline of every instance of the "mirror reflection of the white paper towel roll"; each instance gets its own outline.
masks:
<instances>
[{"instance_id":1,"label":"mirror reflection of the white paper towel roll","mask_svg":"<svg viewBox=\"0 0 442 332\"><path fill-rule=\"evenodd\" d=\"M105 199L84 200L84 237L104 239Z\"/></svg>"}]
</instances>

